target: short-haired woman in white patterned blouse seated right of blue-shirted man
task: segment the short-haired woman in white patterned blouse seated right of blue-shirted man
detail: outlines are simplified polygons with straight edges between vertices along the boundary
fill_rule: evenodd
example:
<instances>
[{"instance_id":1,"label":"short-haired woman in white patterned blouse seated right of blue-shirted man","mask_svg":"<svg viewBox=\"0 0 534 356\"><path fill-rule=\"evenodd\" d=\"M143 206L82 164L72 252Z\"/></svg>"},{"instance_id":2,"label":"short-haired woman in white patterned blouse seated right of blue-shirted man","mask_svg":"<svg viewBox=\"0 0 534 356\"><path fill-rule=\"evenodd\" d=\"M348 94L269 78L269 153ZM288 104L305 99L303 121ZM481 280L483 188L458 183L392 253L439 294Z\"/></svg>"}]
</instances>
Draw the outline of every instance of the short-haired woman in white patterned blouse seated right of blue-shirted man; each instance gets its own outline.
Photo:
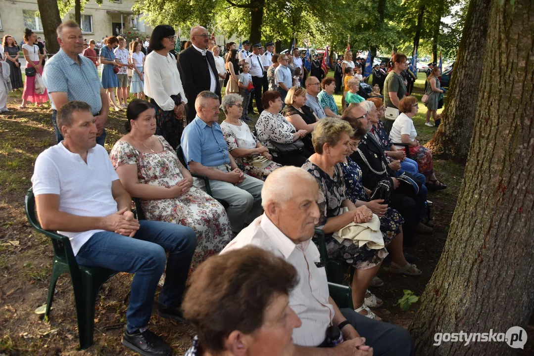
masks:
<instances>
[{"instance_id":1,"label":"short-haired woman in white patterned blouse seated right of blue-shirted man","mask_svg":"<svg viewBox=\"0 0 534 356\"><path fill-rule=\"evenodd\" d=\"M269 149L252 135L246 123L239 120L243 112L243 98L239 94L226 94L221 106L226 114L221 129L228 151L239 169L249 176L265 180L269 173L282 167L271 161Z\"/></svg>"}]
</instances>

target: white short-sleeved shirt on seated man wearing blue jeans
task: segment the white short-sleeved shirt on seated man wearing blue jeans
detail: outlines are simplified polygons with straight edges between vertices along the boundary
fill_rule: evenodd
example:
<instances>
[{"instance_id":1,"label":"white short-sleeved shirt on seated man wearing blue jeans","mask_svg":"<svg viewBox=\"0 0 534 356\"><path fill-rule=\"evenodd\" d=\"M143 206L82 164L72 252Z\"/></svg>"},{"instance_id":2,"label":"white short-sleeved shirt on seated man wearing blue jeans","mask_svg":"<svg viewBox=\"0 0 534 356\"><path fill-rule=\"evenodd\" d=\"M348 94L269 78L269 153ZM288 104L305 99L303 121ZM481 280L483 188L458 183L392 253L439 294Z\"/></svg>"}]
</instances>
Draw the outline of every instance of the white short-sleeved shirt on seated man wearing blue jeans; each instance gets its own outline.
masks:
<instances>
[{"instance_id":1,"label":"white short-sleeved shirt on seated man wearing blue jeans","mask_svg":"<svg viewBox=\"0 0 534 356\"><path fill-rule=\"evenodd\" d=\"M96 145L87 163L61 141L37 156L32 176L34 194L59 195L59 211L78 216L103 217L117 212L111 185L119 179L104 147ZM104 230L58 231L70 240L74 255L91 236Z\"/></svg>"}]
</instances>

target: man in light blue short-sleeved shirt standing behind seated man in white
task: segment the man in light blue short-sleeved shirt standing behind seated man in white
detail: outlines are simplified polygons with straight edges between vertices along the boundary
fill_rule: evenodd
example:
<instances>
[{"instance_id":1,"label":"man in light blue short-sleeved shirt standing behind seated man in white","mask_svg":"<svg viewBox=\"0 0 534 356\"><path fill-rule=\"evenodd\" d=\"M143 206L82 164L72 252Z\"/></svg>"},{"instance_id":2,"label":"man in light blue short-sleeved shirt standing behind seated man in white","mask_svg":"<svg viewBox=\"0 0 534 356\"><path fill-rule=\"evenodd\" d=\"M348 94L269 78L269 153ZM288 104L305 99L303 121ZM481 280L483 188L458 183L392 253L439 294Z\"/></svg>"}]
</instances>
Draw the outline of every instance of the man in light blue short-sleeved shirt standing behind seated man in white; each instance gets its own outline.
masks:
<instances>
[{"instance_id":1,"label":"man in light blue short-sleeved shirt standing behind seated man in white","mask_svg":"<svg viewBox=\"0 0 534 356\"><path fill-rule=\"evenodd\" d=\"M83 52L83 36L80 26L72 20L65 21L57 28L58 43L61 49L47 63L43 70L43 80L52 103L52 124L56 131L57 143L63 140L56 123L57 110L68 101L84 101L91 106L91 114L96 118L97 144L104 146L109 101L98 77L95 64Z\"/></svg>"}]
</instances>

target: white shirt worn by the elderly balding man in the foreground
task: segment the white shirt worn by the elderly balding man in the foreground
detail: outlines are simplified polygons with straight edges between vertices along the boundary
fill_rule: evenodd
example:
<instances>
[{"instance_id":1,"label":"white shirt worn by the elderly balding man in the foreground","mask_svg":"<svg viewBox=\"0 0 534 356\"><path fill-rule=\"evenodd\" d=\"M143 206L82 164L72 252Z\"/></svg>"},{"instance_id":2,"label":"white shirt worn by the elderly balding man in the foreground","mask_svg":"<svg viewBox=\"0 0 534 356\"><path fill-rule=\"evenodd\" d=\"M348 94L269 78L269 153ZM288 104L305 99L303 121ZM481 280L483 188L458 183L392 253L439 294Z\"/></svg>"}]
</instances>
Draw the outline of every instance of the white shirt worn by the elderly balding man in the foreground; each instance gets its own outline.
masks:
<instances>
[{"instance_id":1,"label":"white shirt worn by the elderly balding man in the foreground","mask_svg":"<svg viewBox=\"0 0 534 356\"><path fill-rule=\"evenodd\" d=\"M317 267L319 250L311 241L295 244L263 214L241 230L221 251L254 245L285 258L299 273L299 284L289 294L289 306L302 321L293 329L293 342L301 346L319 346L326 338L326 329L334 317L334 307L328 302L328 282L325 267Z\"/></svg>"}]
</instances>

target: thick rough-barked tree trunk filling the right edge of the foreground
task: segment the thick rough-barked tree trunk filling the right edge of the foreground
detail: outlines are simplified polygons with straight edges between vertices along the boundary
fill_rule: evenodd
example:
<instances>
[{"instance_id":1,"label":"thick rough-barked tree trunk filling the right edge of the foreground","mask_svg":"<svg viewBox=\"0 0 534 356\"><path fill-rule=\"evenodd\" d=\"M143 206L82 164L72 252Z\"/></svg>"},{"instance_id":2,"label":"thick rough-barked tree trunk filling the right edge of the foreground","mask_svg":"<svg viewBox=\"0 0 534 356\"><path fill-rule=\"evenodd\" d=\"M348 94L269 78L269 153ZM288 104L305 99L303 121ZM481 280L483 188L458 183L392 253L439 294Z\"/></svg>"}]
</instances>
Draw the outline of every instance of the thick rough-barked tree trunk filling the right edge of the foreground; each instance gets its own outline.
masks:
<instances>
[{"instance_id":1,"label":"thick rough-barked tree trunk filling the right edge of the foreground","mask_svg":"<svg viewBox=\"0 0 534 356\"><path fill-rule=\"evenodd\" d=\"M410 327L418 355L515 354L505 342L437 347L435 333L526 328L534 306L534 6L531 0L490 6L464 182L443 255Z\"/></svg>"}]
</instances>

